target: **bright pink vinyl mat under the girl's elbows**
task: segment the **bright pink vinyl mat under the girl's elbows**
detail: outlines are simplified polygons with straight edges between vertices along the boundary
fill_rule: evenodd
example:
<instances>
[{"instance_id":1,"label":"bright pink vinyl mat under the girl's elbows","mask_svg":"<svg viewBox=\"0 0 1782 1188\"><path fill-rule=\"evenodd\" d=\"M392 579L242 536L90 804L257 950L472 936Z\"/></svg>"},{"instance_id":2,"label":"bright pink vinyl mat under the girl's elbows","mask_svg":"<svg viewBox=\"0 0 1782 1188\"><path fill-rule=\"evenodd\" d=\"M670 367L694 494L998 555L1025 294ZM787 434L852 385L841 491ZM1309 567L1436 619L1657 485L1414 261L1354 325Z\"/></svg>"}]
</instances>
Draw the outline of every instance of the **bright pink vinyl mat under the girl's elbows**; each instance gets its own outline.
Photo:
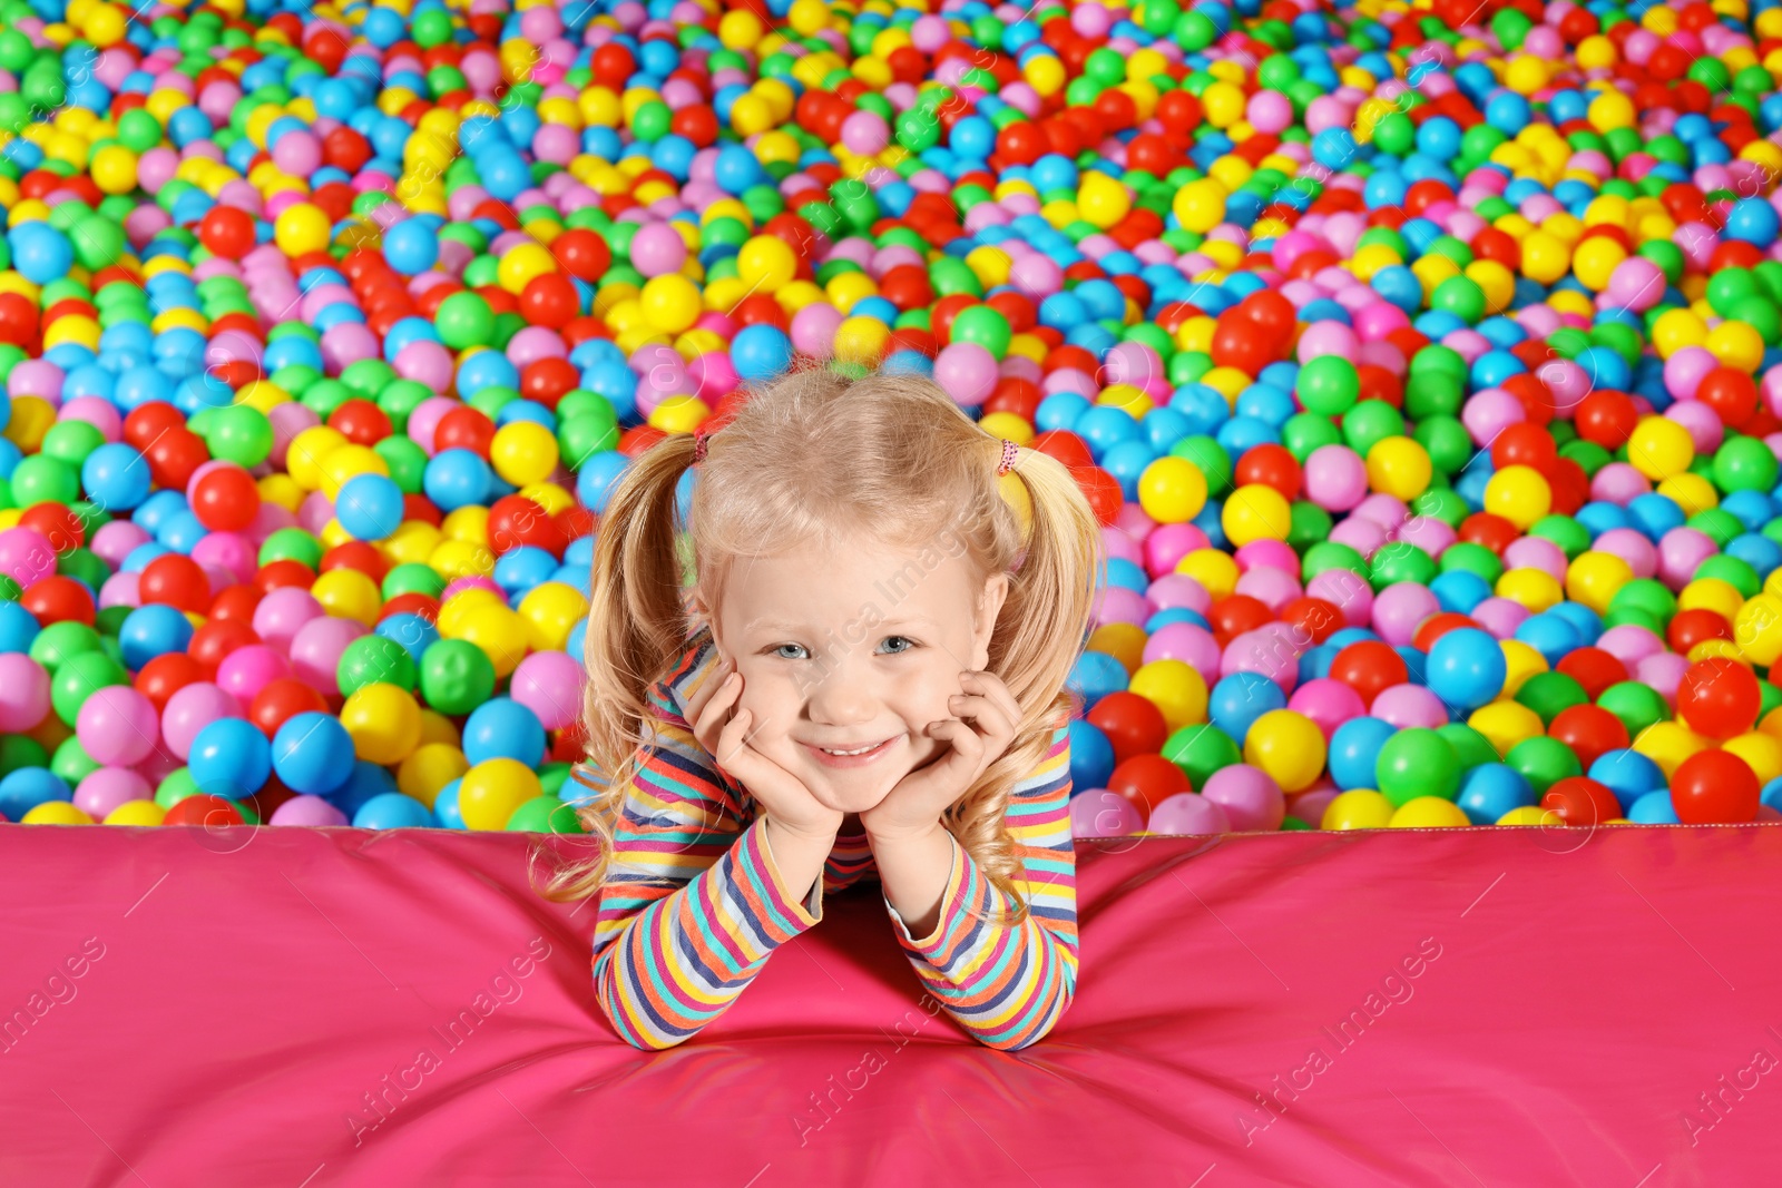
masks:
<instances>
[{"instance_id":1,"label":"bright pink vinyl mat under the girl's elbows","mask_svg":"<svg viewBox=\"0 0 1782 1188\"><path fill-rule=\"evenodd\" d=\"M636 1051L527 846L0 826L0 1184L1777 1183L1777 826L1080 841L1018 1053L873 885Z\"/></svg>"}]
</instances>

